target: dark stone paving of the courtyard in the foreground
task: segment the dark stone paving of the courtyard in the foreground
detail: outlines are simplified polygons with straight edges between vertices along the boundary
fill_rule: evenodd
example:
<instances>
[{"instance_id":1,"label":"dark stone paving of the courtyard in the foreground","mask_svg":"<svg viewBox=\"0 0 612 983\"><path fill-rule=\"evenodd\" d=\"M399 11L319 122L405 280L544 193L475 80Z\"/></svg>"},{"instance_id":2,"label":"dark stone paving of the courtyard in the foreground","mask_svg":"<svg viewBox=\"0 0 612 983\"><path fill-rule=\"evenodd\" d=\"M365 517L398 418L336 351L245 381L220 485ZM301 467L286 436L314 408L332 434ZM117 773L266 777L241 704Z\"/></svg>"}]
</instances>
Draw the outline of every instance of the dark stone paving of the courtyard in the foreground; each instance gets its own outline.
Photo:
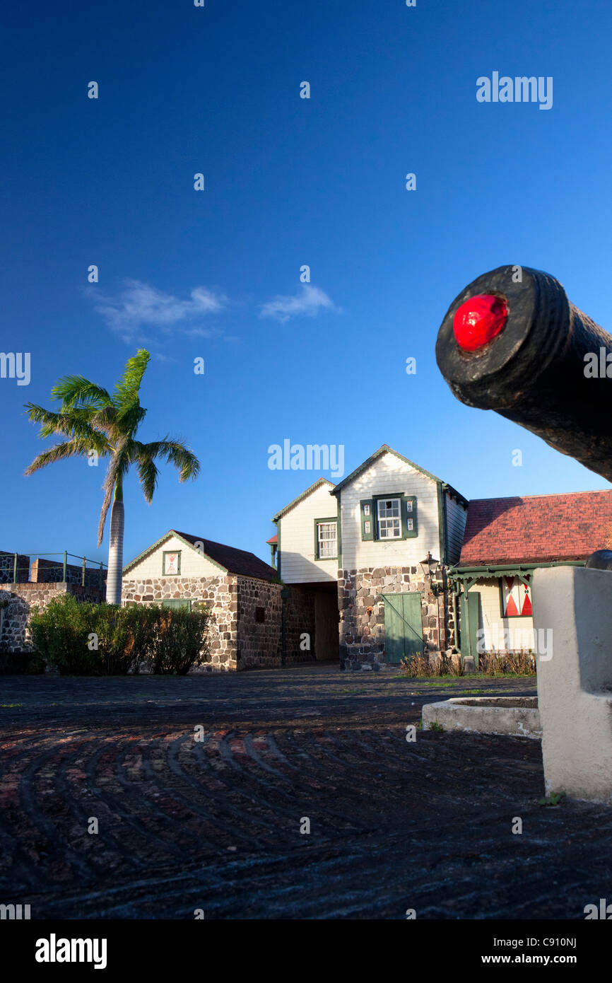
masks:
<instances>
[{"instance_id":1,"label":"dark stone paving of the courtyard in the foreground","mask_svg":"<svg viewBox=\"0 0 612 983\"><path fill-rule=\"evenodd\" d=\"M534 693L442 682L330 664L0 676L0 902L32 918L584 918L612 891L612 809L537 805L536 740L408 742L424 702Z\"/></svg>"}]
</instances>

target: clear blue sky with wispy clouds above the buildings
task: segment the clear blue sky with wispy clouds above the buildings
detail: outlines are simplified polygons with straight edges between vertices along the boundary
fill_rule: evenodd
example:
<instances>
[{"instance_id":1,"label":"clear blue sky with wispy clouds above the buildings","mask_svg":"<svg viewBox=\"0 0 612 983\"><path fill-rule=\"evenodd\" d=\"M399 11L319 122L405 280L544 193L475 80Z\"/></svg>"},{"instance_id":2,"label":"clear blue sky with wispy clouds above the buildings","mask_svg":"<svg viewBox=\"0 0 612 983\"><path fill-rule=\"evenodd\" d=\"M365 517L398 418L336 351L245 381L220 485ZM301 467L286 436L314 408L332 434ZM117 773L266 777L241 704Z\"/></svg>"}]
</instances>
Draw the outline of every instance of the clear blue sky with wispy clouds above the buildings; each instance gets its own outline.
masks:
<instances>
[{"instance_id":1,"label":"clear blue sky with wispy clouds above the buildings","mask_svg":"<svg viewBox=\"0 0 612 983\"><path fill-rule=\"evenodd\" d=\"M139 346L142 439L180 435L202 468L164 468L150 506L128 480L126 560L170 527L268 558L271 516L318 477L268 468L286 438L344 444L346 473L388 443L467 497L607 488L457 402L434 345L502 263L610 326L611 22L603 0L5 8L1 347L31 378L0 379L0 549L106 559L101 468L24 477L23 404L69 373L110 386ZM493 71L551 76L552 108L477 102Z\"/></svg>"}]
</instances>

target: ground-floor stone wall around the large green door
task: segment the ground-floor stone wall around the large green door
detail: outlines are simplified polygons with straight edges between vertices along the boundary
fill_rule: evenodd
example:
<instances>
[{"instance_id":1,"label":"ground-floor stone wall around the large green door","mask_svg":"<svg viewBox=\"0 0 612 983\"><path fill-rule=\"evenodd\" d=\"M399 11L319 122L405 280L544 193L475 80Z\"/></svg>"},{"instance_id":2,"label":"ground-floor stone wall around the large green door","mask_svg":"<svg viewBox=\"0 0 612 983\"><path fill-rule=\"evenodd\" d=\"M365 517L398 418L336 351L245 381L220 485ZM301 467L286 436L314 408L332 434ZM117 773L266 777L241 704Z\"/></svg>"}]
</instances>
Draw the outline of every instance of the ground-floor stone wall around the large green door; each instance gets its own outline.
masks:
<instances>
[{"instance_id":1,"label":"ground-floor stone wall around the large green door","mask_svg":"<svg viewBox=\"0 0 612 983\"><path fill-rule=\"evenodd\" d=\"M429 594L416 566L366 567L339 570L340 661L349 668L385 664L385 617L382 594L421 593L423 654L446 651L449 637L448 592L435 598ZM442 574L436 575L442 583ZM367 608L371 608L368 611ZM438 617L439 610L439 617Z\"/></svg>"}]
</instances>

